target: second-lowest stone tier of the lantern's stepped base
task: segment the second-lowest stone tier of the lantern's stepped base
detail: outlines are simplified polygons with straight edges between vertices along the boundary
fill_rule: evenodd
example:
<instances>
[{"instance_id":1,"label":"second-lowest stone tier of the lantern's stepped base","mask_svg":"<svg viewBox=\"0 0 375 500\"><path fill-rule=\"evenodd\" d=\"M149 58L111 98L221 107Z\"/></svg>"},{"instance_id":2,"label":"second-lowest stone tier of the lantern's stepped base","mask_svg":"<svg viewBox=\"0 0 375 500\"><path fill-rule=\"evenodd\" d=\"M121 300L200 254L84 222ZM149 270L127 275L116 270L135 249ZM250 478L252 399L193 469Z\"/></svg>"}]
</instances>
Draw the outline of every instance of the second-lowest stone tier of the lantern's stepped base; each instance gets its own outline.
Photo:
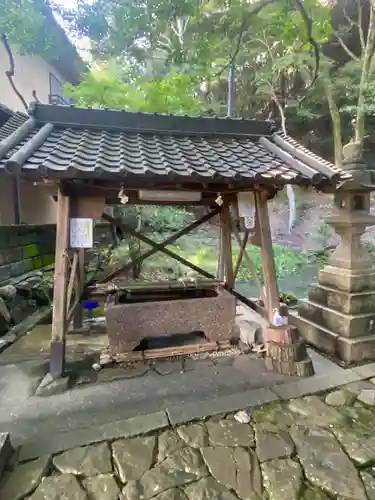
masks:
<instances>
[{"instance_id":1,"label":"second-lowest stone tier of the lantern's stepped base","mask_svg":"<svg viewBox=\"0 0 375 500\"><path fill-rule=\"evenodd\" d=\"M302 299L298 305L298 313L302 318L313 321L346 338L362 337L375 333L375 312L344 314L308 299Z\"/></svg>"}]
</instances>

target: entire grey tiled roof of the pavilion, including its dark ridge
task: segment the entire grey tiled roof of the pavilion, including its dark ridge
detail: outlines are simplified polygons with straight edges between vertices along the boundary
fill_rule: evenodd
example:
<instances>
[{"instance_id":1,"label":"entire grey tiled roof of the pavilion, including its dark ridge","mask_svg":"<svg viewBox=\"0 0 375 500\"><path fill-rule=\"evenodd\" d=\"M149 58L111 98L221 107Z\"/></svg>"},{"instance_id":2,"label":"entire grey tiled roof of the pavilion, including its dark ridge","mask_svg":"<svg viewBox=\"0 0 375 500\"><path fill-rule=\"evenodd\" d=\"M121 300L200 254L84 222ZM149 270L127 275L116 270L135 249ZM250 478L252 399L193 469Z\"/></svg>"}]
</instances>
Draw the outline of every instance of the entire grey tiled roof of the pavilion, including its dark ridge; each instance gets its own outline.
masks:
<instances>
[{"instance_id":1,"label":"entire grey tiled roof of the pavilion, including its dark ridge","mask_svg":"<svg viewBox=\"0 0 375 500\"><path fill-rule=\"evenodd\" d=\"M0 128L1 167L35 177L206 183L318 185L350 178L267 121L40 104L28 119L12 117Z\"/></svg>"}]
</instances>

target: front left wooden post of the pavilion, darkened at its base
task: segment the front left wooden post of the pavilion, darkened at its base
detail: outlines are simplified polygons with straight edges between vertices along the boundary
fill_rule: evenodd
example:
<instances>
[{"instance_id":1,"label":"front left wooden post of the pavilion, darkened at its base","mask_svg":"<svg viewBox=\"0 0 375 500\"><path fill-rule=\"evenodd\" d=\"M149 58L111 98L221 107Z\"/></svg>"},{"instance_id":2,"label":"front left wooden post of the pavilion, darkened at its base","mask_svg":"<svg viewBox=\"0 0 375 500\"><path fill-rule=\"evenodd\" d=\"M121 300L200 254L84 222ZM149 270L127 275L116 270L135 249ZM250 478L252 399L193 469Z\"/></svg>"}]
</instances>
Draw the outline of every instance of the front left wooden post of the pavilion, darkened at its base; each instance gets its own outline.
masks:
<instances>
[{"instance_id":1,"label":"front left wooden post of the pavilion, darkened at its base","mask_svg":"<svg viewBox=\"0 0 375 500\"><path fill-rule=\"evenodd\" d=\"M69 246L69 205L69 197L64 196L61 188L59 188L57 195L55 276L50 353L50 375L53 378L61 377L65 370L68 289L68 258L66 252Z\"/></svg>"}]
</instances>

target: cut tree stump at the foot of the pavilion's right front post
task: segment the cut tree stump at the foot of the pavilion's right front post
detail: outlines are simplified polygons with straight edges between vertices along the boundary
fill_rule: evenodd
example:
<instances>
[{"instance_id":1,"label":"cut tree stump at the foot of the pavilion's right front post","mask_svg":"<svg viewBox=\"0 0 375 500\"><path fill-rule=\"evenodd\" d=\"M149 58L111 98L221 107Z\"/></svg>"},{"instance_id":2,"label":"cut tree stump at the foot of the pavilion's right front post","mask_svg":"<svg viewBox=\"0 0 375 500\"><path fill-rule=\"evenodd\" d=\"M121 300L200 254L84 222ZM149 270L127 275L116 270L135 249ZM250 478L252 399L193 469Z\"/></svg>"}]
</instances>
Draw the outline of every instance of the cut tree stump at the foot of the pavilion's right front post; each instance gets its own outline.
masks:
<instances>
[{"instance_id":1,"label":"cut tree stump at the foot of the pavilion's right front post","mask_svg":"<svg viewBox=\"0 0 375 500\"><path fill-rule=\"evenodd\" d=\"M307 354L306 345L294 326L270 326L265 330L268 370L282 375L310 377L314 367Z\"/></svg>"}]
</instances>

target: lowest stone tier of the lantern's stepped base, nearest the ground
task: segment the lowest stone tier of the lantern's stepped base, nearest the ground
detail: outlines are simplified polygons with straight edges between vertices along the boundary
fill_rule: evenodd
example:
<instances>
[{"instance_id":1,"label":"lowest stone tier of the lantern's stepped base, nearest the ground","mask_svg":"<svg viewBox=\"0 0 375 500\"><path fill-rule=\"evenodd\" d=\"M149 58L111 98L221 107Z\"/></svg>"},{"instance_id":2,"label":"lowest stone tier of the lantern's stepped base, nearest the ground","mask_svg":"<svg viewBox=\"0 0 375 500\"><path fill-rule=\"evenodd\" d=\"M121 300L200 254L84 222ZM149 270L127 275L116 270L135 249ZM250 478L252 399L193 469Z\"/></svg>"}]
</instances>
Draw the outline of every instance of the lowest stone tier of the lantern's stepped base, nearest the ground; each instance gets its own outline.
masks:
<instances>
[{"instance_id":1,"label":"lowest stone tier of the lantern's stepped base, nearest the ground","mask_svg":"<svg viewBox=\"0 0 375 500\"><path fill-rule=\"evenodd\" d=\"M324 352L335 354L348 363L358 363L375 358L375 336L364 335L348 339L328 328L302 318L298 312L289 313L289 322L298 328L301 337L310 345Z\"/></svg>"}]
</instances>

